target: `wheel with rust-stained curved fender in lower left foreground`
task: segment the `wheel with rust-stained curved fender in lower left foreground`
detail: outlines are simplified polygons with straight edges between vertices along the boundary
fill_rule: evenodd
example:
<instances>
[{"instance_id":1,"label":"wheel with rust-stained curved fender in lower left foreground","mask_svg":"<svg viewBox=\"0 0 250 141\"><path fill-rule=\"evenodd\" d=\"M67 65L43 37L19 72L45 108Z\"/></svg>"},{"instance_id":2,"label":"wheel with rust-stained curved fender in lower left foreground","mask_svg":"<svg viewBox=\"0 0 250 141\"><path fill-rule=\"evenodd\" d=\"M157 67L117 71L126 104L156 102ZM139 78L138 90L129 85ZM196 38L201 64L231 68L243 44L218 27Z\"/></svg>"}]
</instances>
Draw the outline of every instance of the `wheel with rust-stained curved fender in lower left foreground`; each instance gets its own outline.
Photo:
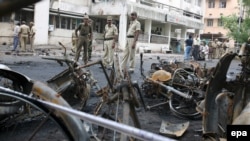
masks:
<instances>
[{"instance_id":1,"label":"wheel with rust-stained curved fender in lower left foreground","mask_svg":"<svg viewBox=\"0 0 250 141\"><path fill-rule=\"evenodd\" d=\"M52 110L30 97L71 108L62 96L47 85L0 64L0 138L6 141L19 140L20 137L37 140L52 134L67 140L89 138L81 120Z\"/></svg>"}]
</instances>

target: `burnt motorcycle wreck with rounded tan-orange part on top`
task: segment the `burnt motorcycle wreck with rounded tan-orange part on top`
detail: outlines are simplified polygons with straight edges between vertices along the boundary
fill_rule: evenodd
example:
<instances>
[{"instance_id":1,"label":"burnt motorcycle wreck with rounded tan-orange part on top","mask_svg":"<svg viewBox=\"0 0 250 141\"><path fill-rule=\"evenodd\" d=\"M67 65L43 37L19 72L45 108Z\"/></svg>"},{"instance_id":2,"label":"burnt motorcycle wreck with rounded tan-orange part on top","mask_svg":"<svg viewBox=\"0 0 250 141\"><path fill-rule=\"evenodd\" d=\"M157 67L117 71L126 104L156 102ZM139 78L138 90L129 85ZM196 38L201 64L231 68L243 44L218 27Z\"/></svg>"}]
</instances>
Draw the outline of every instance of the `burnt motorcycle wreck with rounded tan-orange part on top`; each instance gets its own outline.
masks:
<instances>
[{"instance_id":1,"label":"burnt motorcycle wreck with rounded tan-orange part on top","mask_svg":"<svg viewBox=\"0 0 250 141\"><path fill-rule=\"evenodd\" d=\"M158 57L159 63L151 64L151 70L148 76L145 76L142 56L141 54L141 74L144 77L142 90L147 97L163 98L166 101L148 106L148 109L168 103L170 110L178 117L201 118L196 106L204 99L212 69L205 65L200 67L196 62L191 62L190 65Z\"/></svg>"}]
</instances>

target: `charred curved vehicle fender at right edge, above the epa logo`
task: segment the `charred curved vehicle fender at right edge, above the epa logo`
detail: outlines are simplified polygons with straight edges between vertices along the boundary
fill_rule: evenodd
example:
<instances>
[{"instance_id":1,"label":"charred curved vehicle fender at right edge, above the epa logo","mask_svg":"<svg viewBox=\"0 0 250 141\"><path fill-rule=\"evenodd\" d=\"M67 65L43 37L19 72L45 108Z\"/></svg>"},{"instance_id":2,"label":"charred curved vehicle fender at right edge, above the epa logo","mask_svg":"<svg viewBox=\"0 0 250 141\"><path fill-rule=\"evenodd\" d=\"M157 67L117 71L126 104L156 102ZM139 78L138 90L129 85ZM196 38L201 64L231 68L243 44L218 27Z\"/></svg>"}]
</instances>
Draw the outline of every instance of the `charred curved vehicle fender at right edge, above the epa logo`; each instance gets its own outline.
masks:
<instances>
[{"instance_id":1,"label":"charred curved vehicle fender at right edge, above the epa logo","mask_svg":"<svg viewBox=\"0 0 250 141\"><path fill-rule=\"evenodd\" d=\"M249 125L250 44L244 43L238 54L227 53L218 62L209 81L206 96L197 107L203 115L204 140L227 137L228 125ZM232 60L241 62L240 72L228 75Z\"/></svg>"}]
</instances>

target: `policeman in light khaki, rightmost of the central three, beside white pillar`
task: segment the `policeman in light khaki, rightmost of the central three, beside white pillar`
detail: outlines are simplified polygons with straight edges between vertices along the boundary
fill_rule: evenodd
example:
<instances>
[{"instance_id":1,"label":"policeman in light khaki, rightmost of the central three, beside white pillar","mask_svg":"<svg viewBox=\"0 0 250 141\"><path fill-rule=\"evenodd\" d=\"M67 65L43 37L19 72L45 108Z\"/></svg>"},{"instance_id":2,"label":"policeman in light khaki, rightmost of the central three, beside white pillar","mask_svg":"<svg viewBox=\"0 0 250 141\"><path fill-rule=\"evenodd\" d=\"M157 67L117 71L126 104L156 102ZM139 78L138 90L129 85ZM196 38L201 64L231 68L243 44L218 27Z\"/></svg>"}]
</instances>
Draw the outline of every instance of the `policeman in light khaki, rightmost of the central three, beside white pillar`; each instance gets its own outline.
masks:
<instances>
[{"instance_id":1,"label":"policeman in light khaki, rightmost of the central three, beside white pillar","mask_svg":"<svg viewBox=\"0 0 250 141\"><path fill-rule=\"evenodd\" d=\"M127 62L129 60L129 71L133 72L135 69L135 51L136 42L138 40L141 30L141 23L137 20L137 13L131 13L131 21L127 32L127 43L125 47L124 56L121 62L122 70L126 69Z\"/></svg>"}]
</instances>

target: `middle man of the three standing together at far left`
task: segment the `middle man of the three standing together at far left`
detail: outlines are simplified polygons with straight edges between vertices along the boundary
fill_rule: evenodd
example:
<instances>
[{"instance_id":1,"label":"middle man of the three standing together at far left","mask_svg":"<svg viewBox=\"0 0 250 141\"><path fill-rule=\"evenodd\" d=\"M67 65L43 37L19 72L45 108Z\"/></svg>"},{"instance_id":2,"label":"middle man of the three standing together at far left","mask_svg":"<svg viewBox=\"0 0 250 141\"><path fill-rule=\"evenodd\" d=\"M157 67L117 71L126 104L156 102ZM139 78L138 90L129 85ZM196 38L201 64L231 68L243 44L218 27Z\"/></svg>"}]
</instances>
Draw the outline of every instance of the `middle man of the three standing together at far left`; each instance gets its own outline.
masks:
<instances>
[{"instance_id":1,"label":"middle man of the three standing together at far left","mask_svg":"<svg viewBox=\"0 0 250 141\"><path fill-rule=\"evenodd\" d=\"M19 30L19 39L21 41L21 52L26 52L26 45L29 38L30 28L26 25L25 21L22 21L22 25Z\"/></svg>"}]
</instances>

